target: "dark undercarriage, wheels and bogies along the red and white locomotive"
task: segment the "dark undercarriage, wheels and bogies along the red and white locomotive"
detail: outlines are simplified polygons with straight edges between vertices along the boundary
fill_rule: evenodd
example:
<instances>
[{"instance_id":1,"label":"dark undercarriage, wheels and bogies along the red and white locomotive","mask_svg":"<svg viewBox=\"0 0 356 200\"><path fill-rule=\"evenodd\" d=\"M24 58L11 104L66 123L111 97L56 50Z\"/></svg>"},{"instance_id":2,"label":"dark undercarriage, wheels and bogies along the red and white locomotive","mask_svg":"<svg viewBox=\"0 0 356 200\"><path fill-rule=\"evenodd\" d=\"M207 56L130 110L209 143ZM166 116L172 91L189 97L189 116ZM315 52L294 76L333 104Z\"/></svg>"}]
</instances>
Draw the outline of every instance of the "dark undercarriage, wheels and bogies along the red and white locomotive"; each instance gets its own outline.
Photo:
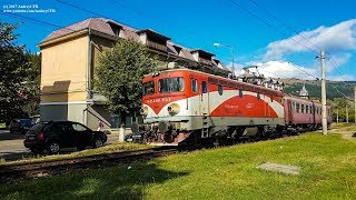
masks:
<instances>
[{"instance_id":1,"label":"dark undercarriage, wheels and bogies along the red and white locomotive","mask_svg":"<svg viewBox=\"0 0 356 200\"><path fill-rule=\"evenodd\" d=\"M135 123L132 124L132 140L134 142L154 146L217 147L294 136L318 128L314 124L215 126L202 117L202 120L200 120L202 126L191 130L189 127L187 128L188 121L180 119L180 121L167 122L161 120L141 126ZM205 121L208 122L204 123ZM192 124L191 120L190 124Z\"/></svg>"}]
</instances>

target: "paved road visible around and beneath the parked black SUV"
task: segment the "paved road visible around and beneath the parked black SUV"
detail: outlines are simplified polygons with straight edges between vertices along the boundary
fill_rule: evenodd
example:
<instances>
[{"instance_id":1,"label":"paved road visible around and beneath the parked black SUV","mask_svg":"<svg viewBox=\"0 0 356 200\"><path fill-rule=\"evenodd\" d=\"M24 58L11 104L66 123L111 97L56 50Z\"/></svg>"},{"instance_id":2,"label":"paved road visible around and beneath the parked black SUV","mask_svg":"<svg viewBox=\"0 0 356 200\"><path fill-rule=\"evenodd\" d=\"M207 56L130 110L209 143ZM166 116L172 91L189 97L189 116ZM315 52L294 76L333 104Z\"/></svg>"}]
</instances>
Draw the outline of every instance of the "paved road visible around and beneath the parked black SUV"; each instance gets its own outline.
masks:
<instances>
[{"instance_id":1,"label":"paved road visible around and beneath the parked black SUV","mask_svg":"<svg viewBox=\"0 0 356 200\"><path fill-rule=\"evenodd\" d=\"M19 160L22 158L34 157L34 154L23 147L24 134L10 133L9 131L0 130L0 159L4 161ZM111 144L118 141L118 136L108 134L106 144ZM65 149L63 153L75 152L76 149Z\"/></svg>"}]
</instances>

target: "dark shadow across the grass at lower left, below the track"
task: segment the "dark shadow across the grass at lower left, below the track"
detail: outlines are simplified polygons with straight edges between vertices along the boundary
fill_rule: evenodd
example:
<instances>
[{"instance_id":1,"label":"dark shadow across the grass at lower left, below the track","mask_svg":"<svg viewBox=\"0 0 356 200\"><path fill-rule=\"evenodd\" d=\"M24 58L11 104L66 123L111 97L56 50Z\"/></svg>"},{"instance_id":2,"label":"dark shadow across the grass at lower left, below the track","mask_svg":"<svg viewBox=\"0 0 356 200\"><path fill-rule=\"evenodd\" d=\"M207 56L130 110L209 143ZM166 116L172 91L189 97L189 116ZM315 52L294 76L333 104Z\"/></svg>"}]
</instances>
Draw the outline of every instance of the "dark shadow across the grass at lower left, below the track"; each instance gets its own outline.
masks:
<instances>
[{"instance_id":1,"label":"dark shadow across the grass at lower left, below the track","mask_svg":"<svg viewBox=\"0 0 356 200\"><path fill-rule=\"evenodd\" d=\"M150 184L162 183L188 173L159 169L154 163L136 162L7 184L0 188L0 198L144 199Z\"/></svg>"}]
</instances>

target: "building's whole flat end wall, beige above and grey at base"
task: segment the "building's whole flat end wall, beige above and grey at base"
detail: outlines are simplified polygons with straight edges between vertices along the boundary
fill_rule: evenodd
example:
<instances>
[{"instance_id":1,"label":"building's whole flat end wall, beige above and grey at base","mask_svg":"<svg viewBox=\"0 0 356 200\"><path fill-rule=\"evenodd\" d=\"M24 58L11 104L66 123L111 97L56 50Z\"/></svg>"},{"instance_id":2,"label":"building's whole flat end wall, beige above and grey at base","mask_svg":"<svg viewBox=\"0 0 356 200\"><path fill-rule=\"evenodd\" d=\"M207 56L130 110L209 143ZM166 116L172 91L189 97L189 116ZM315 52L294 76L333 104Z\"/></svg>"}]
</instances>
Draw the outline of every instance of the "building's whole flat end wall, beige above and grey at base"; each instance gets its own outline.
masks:
<instances>
[{"instance_id":1,"label":"building's whole flat end wall, beige above and grey at base","mask_svg":"<svg viewBox=\"0 0 356 200\"><path fill-rule=\"evenodd\" d=\"M85 121L88 37L41 47L41 121Z\"/></svg>"}]
</instances>

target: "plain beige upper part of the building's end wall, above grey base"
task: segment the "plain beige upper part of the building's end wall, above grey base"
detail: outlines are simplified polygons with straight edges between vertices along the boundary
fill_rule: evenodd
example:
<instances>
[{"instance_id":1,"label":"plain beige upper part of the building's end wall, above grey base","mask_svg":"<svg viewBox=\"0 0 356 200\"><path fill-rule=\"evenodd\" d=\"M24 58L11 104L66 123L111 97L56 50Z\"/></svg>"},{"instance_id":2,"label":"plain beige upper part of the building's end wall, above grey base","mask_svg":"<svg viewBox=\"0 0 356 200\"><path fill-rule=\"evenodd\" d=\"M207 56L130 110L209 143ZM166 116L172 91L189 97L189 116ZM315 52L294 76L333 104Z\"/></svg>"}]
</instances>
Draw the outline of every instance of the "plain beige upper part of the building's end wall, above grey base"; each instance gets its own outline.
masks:
<instances>
[{"instance_id":1,"label":"plain beige upper part of the building's end wall, above grey base","mask_svg":"<svg viewBox=\"0 0 356 200\"><path fill-rule=\"evenodd\" d=\"M88 37L41 48L41 102L87 99Z\"/></svg>"}]
</instances>

